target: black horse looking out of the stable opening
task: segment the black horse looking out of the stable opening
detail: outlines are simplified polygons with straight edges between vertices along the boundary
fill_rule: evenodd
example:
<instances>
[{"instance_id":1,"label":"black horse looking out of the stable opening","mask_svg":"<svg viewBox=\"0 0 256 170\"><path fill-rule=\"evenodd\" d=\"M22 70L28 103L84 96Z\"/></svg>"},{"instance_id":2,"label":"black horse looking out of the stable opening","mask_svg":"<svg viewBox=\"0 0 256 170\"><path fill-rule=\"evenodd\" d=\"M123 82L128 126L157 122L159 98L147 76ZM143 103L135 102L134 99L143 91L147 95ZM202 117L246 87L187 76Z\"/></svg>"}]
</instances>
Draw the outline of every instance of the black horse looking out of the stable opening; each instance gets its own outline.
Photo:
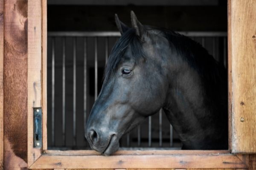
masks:
<instances>
[{"instance_id":1,"label":"black horse looking out of the stable opening","mask_svg":"<svg viewBox=\"0 0 256 170\"><path fill-rule=\"evenodd\" d=\"M163 108L182 149L228 148L227 72L197 42L162 28L143 26L131 11L105 69L102 90L85 137L104 155L119 139Z\"/></svg>"}]
</instances>

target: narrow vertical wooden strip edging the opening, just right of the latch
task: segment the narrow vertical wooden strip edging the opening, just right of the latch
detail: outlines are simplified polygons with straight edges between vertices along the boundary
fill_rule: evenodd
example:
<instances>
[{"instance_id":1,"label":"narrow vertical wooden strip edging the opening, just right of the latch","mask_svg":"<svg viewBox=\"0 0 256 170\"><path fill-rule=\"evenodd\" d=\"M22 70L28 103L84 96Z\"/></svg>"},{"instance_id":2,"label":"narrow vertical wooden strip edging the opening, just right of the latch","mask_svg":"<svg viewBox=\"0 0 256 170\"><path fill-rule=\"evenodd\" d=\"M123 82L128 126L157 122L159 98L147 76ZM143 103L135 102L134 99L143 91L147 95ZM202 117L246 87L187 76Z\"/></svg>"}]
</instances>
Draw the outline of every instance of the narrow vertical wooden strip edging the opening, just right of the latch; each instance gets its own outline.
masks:
<instances>
[{"instance_id":1,"label":"narrow vertical wooden strip edging the opening, just right of the latch","mask_svg":"<svg viewBox=\"0 0 256 170\"><path fill-rule=\"evenodd\" d=\"M42 0L42 128L43 150L47 150L47 1Z\"/></svg>"}]
</instances>

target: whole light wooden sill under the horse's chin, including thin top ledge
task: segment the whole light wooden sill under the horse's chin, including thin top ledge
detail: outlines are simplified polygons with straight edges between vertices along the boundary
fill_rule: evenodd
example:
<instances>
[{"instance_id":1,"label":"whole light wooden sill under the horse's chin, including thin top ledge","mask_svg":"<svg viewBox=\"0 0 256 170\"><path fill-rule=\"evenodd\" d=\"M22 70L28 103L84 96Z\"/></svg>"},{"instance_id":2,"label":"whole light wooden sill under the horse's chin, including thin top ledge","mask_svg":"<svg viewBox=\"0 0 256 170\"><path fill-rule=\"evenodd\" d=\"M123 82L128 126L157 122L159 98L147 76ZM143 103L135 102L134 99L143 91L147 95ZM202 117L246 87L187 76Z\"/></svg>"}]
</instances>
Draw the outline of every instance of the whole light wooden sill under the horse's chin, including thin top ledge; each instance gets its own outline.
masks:
<instances>
[{"instance_id":1,"label":"whole light wooden sill under the horse's chin, including thin top ledge","mask_svg":"<svg viewBox=\"0 0 256 170\"><path fill-rule=\"evenodd\" d=\"M247 168L245 160L229 150L120 150L113 156L93 150L45 150L29 169Z\"/></svg>"}]
</instances>

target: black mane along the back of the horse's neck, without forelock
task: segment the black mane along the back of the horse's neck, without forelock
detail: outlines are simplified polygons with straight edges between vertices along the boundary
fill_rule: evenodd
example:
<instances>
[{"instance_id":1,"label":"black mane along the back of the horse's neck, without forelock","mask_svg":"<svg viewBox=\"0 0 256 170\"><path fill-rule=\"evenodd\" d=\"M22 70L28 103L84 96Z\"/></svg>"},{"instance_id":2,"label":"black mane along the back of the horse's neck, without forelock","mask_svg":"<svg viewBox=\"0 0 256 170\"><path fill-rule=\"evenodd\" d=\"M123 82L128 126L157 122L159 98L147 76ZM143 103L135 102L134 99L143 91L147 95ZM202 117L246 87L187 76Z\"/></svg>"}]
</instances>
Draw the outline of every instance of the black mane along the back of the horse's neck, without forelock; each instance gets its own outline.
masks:
<instances>
[{"instance_id":1,"label":"black mane along the back of the horse's neck, without forelock","mask_svg":"<svg viewBox=\"0 0 256 170\"><path fill-rule=\"evenodd\" d=\"M202 45L174 31L158 28L166 39L172 43L176 51L198 71L204 83L209 105L227 106L227 70L216 61ZM218 96L219 95L219 96ZM222 96L220 98L220 96ZM217 107L219 108L219 107ZM223 108L219 108L223 109Z\"/></svg>"}]
</instances>

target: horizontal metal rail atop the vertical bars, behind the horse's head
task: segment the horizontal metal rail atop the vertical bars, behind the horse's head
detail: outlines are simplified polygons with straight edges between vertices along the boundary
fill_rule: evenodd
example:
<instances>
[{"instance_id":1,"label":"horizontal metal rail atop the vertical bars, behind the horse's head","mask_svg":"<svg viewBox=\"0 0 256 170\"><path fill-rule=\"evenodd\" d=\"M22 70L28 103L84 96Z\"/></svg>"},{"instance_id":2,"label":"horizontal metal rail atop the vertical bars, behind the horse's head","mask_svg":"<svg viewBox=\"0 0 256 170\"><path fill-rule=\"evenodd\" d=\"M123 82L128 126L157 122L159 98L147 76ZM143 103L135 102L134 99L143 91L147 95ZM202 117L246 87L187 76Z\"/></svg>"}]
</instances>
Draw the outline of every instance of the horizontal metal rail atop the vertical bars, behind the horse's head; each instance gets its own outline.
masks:
<instances>
[{"instance_id":1,"label":"horizontal metal rail atop the vertical bars, behind the horse's head","mask_svg":"<svg viewBox=\"0 0 256 170\"><path fill-rule=\"evenodd\" d=\"M179 34L186 35L188 37L226 37L227 32L204 32L204 31L176 31ZM118 31L60 31L60 32L48 32L48 36L55 37L120 37L121 34Z\"/></svg>"}]
</instances>

